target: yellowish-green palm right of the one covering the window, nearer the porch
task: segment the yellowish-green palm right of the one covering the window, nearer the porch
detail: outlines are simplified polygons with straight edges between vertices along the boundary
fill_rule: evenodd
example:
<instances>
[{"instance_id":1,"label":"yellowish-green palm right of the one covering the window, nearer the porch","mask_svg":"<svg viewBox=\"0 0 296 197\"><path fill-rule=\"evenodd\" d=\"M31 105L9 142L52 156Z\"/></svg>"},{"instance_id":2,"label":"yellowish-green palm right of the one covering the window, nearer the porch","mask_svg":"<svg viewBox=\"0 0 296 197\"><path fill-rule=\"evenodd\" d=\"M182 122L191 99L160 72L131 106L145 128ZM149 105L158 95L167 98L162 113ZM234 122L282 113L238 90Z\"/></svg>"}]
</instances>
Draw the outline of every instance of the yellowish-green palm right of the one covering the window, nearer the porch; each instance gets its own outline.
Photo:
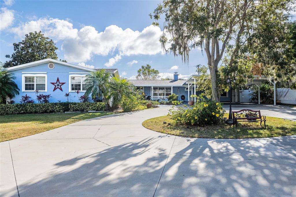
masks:
<instances>
[{"instance_id":1,"label":"yellowish-green palm right of the one covering the window, nearer the porch","mask_svg":"<svg viewBox=\"0 0 296 197\"><path fill-rule=\"evenodd\" d=\"M113 77L109 83L110 96L112 98L112 108L116 108L123 96L127 98L137 94L136 87L126 79L118 79Z\"/></svg>"}]
</instances>

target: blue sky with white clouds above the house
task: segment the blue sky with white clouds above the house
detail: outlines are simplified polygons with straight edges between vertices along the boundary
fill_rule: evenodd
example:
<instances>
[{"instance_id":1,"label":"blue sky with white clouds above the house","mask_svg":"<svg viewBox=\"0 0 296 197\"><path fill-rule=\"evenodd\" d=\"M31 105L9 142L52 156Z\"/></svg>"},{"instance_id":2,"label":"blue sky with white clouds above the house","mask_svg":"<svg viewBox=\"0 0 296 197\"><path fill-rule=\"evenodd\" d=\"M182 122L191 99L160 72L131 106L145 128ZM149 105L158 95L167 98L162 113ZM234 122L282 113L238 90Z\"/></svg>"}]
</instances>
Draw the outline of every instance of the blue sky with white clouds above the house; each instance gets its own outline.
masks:
<instances>
[{"instance_id":1,"label":"blue sky with white clouds above the house","mask_svg":"<svg viewBox=\"0 0 296 197\"><path fill-rule=\"evenodd\" d=\"M25 33L41 30L54 40L58 57L94 68L118 68L134 78L141 65L150 64L163 77L188 77L195 65L206 64L199 49L189 64L180 56L164 54L158 41L162 27L148 16L160 1L1 1L1 53L12 54L12 43ZM5 22L2 22L4 21ZM173 67L173 69L171 69Z\"/></svg>"}]
</instances>

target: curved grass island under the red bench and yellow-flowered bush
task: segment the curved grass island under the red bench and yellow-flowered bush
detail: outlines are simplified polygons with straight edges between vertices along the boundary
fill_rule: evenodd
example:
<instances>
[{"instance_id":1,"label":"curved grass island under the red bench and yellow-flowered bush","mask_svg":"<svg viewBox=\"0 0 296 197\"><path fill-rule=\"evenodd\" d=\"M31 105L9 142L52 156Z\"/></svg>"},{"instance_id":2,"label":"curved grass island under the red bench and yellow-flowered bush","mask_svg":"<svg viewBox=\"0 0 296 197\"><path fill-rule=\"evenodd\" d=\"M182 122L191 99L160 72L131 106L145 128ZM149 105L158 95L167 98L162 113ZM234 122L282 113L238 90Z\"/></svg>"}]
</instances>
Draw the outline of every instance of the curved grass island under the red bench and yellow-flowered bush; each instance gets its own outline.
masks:
<instances>
[{"instance_id":1,"label":"curved grass island under the red bench and yellow-flowered bush","mask_svg":"<svg viewBox=\"0 0 296 197\"><path fill-rule=\"evenodd\" d=\"M171 125L163 124L168 122ZM296 135L296 122L275 117L266 117L266 129L264 123L240 122L237 127L232 125L209 125L205 127L176 125L169 116L160 116L146 120L144 127L160 133L178 135L192 138L267 138L285 135Z\"/></svg>"}]
</instances>

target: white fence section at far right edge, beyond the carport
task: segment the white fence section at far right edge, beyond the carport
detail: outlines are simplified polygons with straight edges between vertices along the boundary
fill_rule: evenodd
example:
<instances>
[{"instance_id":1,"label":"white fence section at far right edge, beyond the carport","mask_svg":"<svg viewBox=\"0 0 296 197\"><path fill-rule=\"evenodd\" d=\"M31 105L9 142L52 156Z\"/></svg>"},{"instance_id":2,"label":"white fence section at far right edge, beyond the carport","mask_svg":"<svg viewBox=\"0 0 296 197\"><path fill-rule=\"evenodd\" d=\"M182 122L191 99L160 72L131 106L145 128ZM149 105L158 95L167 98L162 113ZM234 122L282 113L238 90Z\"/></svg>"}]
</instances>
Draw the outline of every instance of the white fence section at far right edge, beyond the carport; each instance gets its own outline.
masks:
<instances>
[{"instance_id":1,"label":"white fence section at far right edge, beyond the carport","mask_svg":"<svg viewBox=\"0 0 296 197\"><path fill-rule=\"evenodd\" d=\"M296 89L277 88L276 101L279 103L296 105Z\"/></svg>"}]
</instances>

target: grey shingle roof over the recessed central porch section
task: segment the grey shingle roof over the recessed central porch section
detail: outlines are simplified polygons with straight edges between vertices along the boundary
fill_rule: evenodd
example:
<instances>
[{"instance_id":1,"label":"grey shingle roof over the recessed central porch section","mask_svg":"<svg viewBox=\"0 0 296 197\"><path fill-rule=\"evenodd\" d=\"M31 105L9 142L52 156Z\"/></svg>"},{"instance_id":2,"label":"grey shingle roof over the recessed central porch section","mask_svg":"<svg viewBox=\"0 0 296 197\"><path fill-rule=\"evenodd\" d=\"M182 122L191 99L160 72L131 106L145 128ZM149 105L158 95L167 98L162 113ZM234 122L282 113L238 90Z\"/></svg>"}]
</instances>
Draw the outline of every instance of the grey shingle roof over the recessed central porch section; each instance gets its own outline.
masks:
<instances>
[{"instance_id":1,"label":"grey shingle roof over the recessed central porch section","mask_svg":"<svg viewBox=\"0 0 296 197\"><path fill-rule=\"evenodd\" d=\"M181 86L186 80L129 80L135 86Z\"/></svg>"}]
</instances>

